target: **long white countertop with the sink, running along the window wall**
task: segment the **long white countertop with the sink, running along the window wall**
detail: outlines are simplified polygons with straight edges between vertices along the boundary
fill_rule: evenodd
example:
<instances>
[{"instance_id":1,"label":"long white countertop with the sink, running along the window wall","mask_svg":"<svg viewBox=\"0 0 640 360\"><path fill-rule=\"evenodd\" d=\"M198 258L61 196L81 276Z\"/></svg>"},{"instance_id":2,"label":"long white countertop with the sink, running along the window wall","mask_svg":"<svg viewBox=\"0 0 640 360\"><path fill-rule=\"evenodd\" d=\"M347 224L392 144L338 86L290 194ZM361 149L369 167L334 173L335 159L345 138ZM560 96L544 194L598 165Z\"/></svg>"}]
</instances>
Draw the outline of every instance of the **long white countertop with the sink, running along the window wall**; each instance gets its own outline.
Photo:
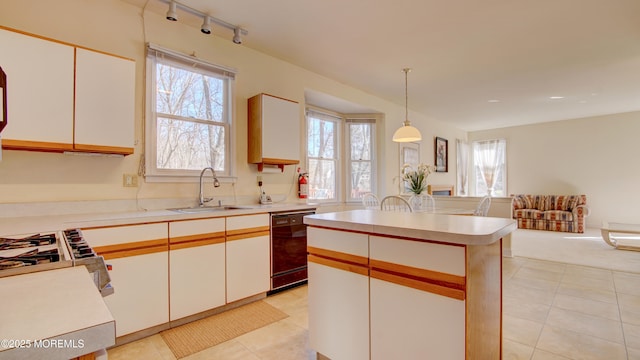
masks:
<instances>
[{"instance_id":1,"label":"long white countertop with the sink, running along the window wall","mask_svg":"<svg viewBox=\"0 0 640 360\"><path fill-rule=\"evenodd\" d=\"M69 214L49 216L0 217L0 236L22 235L38 232L58 231L70 228L96 226L131 225L149 222L200 219L222 216L247 215L315 209L311 204L239 205L242 209L220 210L201 213L181 213L173 210L149 210L109 212L92 214Z\"/></svg>"}]
</instances>

